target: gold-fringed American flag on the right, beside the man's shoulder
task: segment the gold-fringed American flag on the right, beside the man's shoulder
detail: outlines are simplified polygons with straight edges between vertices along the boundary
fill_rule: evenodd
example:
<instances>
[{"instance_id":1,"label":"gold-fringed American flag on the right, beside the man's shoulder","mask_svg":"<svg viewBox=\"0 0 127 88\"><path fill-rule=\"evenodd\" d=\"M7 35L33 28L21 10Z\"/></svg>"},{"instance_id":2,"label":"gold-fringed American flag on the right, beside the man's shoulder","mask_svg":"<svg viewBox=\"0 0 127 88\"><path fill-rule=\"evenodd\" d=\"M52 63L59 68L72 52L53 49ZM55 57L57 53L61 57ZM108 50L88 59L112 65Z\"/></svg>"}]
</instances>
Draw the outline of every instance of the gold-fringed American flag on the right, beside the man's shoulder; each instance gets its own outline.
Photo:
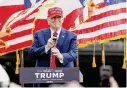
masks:
<instances>
[{"instance_id":1,"label":"gold-fringed American flag on the right, beside the man's shoulder","mask_svg":"<svg viewBox=\"0 0 127 88\"><path fill-rule=\"evenodd\" d=\"M97 9L73 30L78 35L79 47L126 37L126 0L93 1L98 3Z\"/></svg>"}]
</instances>

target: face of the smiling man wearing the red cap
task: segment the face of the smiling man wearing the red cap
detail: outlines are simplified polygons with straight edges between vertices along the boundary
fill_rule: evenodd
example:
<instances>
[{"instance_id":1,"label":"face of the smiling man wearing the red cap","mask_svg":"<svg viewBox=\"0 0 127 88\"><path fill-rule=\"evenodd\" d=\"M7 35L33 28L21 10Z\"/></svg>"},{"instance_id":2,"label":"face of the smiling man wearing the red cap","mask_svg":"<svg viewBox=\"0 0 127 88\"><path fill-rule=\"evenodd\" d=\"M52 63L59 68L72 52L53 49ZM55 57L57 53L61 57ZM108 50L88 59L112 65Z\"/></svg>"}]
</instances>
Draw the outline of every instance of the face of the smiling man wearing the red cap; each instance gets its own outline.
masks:
<instances>
[{"instance_id":1,"label":"face of the smiling man wearing the red cap","mask_svg":"<svg viewBox=\"0 0 127 88\"><path fill-rule=\"evenodd\" d=\"M53 30L58 30L63 23L63 19L61 16L54 16L52 18L48 17L48 24Z\"/></svg>"}]
</instances>

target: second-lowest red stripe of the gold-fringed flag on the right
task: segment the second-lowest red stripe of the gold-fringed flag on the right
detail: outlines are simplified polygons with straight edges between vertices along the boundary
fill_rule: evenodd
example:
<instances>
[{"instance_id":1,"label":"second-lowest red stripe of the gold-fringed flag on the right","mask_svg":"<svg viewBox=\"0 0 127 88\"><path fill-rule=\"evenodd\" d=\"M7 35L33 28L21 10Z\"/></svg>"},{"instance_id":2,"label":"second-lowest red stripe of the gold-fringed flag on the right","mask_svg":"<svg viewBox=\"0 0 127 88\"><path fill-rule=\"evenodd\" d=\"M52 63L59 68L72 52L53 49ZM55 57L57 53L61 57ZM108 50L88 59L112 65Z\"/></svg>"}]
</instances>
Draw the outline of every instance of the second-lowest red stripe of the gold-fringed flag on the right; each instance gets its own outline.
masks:
<instances>
[{"instance_id":1,"label":"second-lowest red stripe of the gold-fringed flag on the right","mask_svg":"<svg viewBox=\"0 0 127 88\"><path fill-rule=\"evenodd\" d=\"M76 34L90 33L90 32L94 32L97 30L101 30L101 29L106 28L106 27L112 27L112 26L117 26L117 25L126 24L126 23L127 23L127 19L120 19L120 20L105 22L103 24L99 24L99 25L89 27L89 28L85 28L85 29L74 30L73 32Z\"/></svg>"}]
</instances>

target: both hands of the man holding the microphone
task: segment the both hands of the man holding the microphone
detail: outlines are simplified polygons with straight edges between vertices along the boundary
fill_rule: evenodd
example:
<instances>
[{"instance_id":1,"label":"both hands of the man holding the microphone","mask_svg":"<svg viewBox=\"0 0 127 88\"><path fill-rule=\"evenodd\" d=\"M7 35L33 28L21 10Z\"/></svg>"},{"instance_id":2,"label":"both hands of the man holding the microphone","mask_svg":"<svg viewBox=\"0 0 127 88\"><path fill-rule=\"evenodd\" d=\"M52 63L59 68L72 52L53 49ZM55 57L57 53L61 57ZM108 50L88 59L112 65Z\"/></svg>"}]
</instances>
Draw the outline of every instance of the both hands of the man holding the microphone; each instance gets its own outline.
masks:
<instances>
[{"instance_id":1,"label":"both hands of the man holding the microphone","mask_svg":"<svg viewBox=\"0 0 127 88\"><path fill-rule=\"evenodd\" d=\"M48 48L51 48L51 51L53 52L53 55L56 55L56 57L60 60L63 59L63 55L60 53L60 51L54 47L55 46L55 43L53 41L54 37L53 38L49 38L48 42L47 42L47 47Z\"/></svg>"}]
</instances>

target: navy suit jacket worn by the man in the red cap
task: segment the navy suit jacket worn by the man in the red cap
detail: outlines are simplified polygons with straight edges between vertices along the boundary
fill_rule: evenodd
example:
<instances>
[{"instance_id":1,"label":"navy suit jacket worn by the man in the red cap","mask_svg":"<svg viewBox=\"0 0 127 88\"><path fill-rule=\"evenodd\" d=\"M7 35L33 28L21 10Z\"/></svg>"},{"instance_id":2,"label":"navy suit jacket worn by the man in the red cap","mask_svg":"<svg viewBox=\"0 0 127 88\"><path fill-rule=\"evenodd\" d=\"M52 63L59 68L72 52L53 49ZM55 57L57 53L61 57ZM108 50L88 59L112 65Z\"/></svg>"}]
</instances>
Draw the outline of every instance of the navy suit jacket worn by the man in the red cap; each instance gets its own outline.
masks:
<instances>
[{"instance_id":1,"label":"navy suit jacket worn by the man in the red cap","mask_svg":"<svg viewBox=\"0 0 127 88\"><path fill-rule=\"evenodd\" d=\"M50 28L42 29L35 32L34 41L30 48L29 54L32 58L36 59L37 67L50 67L51 49L48 53L45 53L45 45L48 39L51 37ZM63 55L63 63L61 64L59 59L56 59L57 67L74 67L74 61L77 59L77 36L76 34L61 29L57 48Z\"/></svg>"}]
</instances>

